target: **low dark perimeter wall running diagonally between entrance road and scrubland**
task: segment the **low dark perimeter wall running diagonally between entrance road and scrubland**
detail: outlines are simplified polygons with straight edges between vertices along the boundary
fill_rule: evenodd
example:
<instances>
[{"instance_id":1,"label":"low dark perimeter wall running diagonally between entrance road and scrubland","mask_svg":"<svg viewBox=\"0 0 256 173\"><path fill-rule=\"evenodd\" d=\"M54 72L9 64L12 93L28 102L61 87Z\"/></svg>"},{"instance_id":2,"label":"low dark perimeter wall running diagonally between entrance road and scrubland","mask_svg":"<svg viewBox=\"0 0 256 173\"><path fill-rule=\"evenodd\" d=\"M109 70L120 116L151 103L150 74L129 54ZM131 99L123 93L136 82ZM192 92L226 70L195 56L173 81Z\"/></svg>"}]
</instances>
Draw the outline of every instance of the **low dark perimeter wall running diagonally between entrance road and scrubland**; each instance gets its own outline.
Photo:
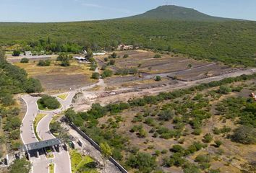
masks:
<instances>
[{"instance_id":1,"label":"low dark perimeter wall running diagonally between entrance road and scrubland","mask_svg":"<svg viewBox=\"0 0 256 173\"><path fill-rule=\"evenodd\" d=\"M72 123L69 123L69 125L77 131L77 133L80 134L80 136L82 136L83 138L85 138L87 141L90 142L90 144L92 144L92 146L94 148L96 148L98 151L101 151L101 147L98 146L98 143L95 143L95 141L93 141L92 138L90 138L88 135L86 135L84 132L82 132L82 130L80 130L80 128L77 128L77 126L75 126L74 124ZM122 173L128 173L126 169L124 169L124 167L121 166L121 164L119 164L113 157L110 157L109 158L109 161L111 161L116 167L119 168L119 170L122 172Z\"/></svg>"}]
</instances>

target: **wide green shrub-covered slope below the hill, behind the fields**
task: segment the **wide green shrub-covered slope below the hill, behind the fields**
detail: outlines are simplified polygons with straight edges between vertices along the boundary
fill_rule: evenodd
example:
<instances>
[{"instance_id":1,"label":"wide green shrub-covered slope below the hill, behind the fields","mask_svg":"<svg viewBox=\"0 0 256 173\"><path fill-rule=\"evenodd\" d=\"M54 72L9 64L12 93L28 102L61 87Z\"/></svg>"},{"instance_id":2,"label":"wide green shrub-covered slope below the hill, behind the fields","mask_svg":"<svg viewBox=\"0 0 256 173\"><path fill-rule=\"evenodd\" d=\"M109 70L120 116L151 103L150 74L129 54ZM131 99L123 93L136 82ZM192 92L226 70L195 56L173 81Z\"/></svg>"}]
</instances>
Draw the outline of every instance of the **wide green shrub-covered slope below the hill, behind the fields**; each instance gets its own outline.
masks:
<instances>
[{"instance_id":1,"label":"wide green shrub-covered slope below the hill, behind the fields","mask_svg":"<svg viewBox=\"0 0 256 173\"><path fill-rule=\"evenodd\" d=\"M0 23L0 44L20 43L24 47L27 44L35 47L45 40L43 47L48 49L58 48L63 43L76 43L81 48L109 50L111 46L126 43L186 53L211 61L256 66L255 28L256 22L182 22L164 19Z\"/></svg>"}]
</instances>

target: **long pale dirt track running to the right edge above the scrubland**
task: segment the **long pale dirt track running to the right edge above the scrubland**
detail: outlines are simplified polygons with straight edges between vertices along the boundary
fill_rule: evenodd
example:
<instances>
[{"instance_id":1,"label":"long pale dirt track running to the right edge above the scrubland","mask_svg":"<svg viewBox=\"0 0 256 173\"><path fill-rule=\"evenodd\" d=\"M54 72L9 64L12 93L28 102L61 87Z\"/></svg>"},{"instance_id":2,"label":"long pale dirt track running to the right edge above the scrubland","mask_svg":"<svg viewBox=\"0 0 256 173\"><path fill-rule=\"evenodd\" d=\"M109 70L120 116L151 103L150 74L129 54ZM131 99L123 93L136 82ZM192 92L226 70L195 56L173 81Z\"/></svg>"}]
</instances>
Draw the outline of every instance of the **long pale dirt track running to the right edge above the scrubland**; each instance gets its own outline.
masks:
<instances>
[{"instance_id":1,"label":"long pale dirt track running to the right edge above the scrubland","mask_svg":"<svg viewBox=\"0 0 256 173\"><path fill-rule=\"evenodd\" d=\"M245 69L245 70L239 70L234 71L229 74L223 74L221 76L213 76L206 79L198 79L195 81L178 81L176 84L167 84L166 86L160 86L155 87L153 89L140 89L140 90L132 90L132 88L129 88L131 92L120 92L122 89L116 89L112 91L112 95L108 94L108 92L93 92L88 93L84 92L84 99L80 98L80 100L77 101L76 105L74 105L74 110L77 111L85 111L90 108L90 105L92 105L95 102L99 102L102 105L107 105L111 102L127 102L127 100L135 98L135 97L143 97L145 95L154 95L158 94L160 92L171 92L175 89L184 89L189 88L191 86L196 86L203 83L209 83L210 81L220 81L222 79L228 78L228 77L236 77L241 76L242 74L254 74L256 72L256 68L251 69ZM85 102L85 100L88 100L86 97L88 97L88 94L90 94L90 102ZM93 97L91 97L93 95Z\"/></svg>"}]
</instances>

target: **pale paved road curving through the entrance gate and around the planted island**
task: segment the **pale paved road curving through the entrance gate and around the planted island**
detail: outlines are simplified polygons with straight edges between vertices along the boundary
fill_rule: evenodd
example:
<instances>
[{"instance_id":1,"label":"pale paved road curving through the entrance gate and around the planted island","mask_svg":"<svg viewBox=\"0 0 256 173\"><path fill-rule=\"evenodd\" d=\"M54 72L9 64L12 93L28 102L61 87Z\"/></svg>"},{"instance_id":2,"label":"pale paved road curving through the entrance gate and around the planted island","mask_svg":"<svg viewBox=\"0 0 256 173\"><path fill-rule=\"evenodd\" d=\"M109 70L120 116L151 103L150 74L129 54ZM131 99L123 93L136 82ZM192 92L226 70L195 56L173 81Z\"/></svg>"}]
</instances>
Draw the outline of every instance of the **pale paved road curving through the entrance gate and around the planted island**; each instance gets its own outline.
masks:
<instances>
[{"instance_id":1,"label":"pale paved road curving through the entrance gate and around the planted island","mask_svg":"<svg viewBox=\"0 0 256 173\"><path fill-rule=\"evenodd\" d=\"M61 103L61 108L53 111L38 110L38 105L36 102L38 101L39 97L32 97L30 95L22 96L22 99L24 99L27 105L27 112L22 120L22 125L20 128L20 136L22 138L22 142L24 144L38 142L38 139L36 138L34 133L33 122L35 120L35 117L39 113L46 114L46 117L43 117L43 119L40 120L37 129L35 129L38 132L38 136L43 141L55 138L55 136L51 134L49 129L49 125L54 116L54 113L58 114L64 110L67 110L72 105L72 99L77 92L81 92L85 89L90 89L97 85L104 86L103 79L100 79L97 84L92 84L90 86L85 86L80 89L75 89L70 92L64 93L68 94L65 100L57 97L59 94L54 95L54 97L56 97ZM44 154L40 155L39 158L31 157L31 162L33 164L32 172L35 173L48 173L48 165L51 162L55 164L56 173L71 173L70 156L68 151L65 150L61 150L59 153L54 152L54 158L52 159L46 159L46 156Z\"/></svg>"}]
</instances>

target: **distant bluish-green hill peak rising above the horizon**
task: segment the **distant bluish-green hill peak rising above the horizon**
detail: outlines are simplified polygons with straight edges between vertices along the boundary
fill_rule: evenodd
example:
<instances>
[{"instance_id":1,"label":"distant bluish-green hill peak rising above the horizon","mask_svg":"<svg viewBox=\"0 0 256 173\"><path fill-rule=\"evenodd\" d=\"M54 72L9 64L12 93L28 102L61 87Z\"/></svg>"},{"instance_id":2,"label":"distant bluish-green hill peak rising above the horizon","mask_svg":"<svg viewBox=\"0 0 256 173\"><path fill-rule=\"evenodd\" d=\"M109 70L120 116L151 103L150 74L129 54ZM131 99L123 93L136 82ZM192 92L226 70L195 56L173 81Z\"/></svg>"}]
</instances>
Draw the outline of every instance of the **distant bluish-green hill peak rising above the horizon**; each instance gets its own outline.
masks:
<instances>
[{"instance_id":1,"label":"distant bluish-green hill peak rising above the horizon","mask_svg":"<svg viewBox=\"0 0 256 173\"><path fill-rule=\"evenodd\" d=\"M126 19L168 19L182 21L228 21L237 19L228 19L222 17L212 17L207 14L198 12L195 9L189 9L182 6L158 6L156 9L151 9L148 12L139 14Z\"/></svg>"}]
</instances>

